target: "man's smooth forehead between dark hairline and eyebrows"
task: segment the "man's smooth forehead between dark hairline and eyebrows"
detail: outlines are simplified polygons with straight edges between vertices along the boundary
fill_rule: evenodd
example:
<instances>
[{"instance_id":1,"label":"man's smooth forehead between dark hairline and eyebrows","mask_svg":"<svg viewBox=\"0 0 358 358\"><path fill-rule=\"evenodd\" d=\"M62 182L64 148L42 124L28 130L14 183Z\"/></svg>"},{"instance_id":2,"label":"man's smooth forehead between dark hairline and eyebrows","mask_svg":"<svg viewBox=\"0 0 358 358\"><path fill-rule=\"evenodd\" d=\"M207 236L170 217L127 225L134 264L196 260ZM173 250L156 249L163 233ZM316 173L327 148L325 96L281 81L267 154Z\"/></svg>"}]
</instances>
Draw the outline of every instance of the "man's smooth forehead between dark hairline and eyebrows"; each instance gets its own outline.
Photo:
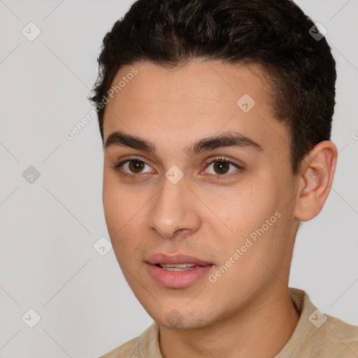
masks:
<instances>
[{"instance_id":1,"label":"man's smooth forehead between dark hairline and eyebrows","mask_svg":"<svg viewBox=\"0 0 358 358\"><path fill-rule=\"evenodd\" d=\"M129 76L134 69L136 75ZM182 141L222 129L241 131L257 143L269 141L270 136L288 141L282 124L273 117L271 87L258 65L196 61L167 69L136 63L123 66L112 86L120 81L121 90L106 105L105 141L117 130L154 141L169 136Z\"/></svg>"}]
</instances>

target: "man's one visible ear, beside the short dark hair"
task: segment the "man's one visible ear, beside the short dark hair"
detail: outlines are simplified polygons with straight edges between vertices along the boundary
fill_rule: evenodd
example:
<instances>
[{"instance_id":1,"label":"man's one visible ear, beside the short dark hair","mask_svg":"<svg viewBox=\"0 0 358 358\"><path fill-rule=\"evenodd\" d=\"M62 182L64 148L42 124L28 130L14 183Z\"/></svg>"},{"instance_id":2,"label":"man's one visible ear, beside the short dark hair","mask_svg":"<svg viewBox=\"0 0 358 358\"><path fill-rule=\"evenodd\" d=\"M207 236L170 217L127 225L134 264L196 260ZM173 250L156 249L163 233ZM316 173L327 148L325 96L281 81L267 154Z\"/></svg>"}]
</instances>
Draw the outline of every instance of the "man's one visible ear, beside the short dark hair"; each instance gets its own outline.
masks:
<instances>
[{"instance_id":1,"label":"man's one visible ear, beside the short dark hair","mask_svg":"<svg viewBox=\"0 0 358 358\"><path fill-rule=\"evenodd\" d=\"M337 155L336 145L323 141L315 145L303 159L294 209L297 220L311 220L322 210L331 190Z\"/></svg>"}]
</instances>

